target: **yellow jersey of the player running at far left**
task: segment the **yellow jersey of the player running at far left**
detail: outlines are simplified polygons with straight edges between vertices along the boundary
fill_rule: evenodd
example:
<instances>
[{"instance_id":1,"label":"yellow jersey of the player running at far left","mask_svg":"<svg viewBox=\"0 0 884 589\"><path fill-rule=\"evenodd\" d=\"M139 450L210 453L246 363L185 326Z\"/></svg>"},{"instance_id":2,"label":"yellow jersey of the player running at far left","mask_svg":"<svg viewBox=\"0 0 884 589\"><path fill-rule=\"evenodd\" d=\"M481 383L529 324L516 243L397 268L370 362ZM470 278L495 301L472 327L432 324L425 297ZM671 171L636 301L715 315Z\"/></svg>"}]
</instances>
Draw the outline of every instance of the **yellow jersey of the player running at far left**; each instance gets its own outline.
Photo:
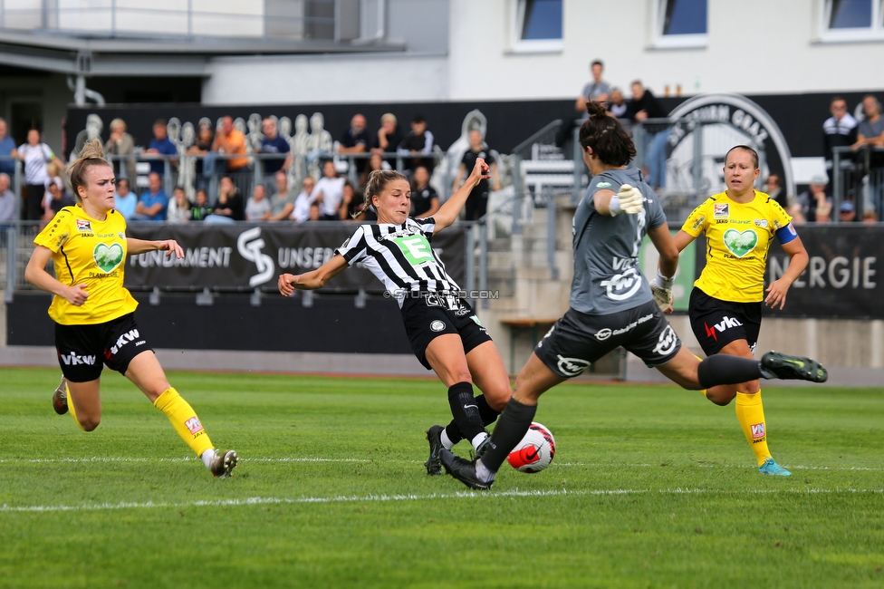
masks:
<instances>
[{"instance_id":1,"label":"yellow jersey of the player running at far left","mask_svg":"<svg viewBox=\"0 0 884 589\"><path fill-rule=\"evenodd\" d=\"M126 219L115 210L103 221L80 205L60 210L34 238L53 252L55 277L65 285L84 285L82 306L56 295L49 316L62 325L105 323L135 311L138 302L123 287L126 266Z\"/></svg>"}]
</instances>

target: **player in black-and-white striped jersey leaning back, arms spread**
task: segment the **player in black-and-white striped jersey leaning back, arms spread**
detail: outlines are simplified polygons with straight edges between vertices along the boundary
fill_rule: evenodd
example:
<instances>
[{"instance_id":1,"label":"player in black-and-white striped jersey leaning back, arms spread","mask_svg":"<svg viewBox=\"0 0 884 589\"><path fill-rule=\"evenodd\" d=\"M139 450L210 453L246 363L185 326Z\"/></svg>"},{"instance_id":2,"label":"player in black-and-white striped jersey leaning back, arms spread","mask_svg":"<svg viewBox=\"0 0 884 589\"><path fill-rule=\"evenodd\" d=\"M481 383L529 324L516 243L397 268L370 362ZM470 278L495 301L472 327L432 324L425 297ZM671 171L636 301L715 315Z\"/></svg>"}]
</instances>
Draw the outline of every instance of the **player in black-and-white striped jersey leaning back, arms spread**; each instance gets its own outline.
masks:
<instances>
[{"instance_id":1,"label":"player in black-and-white striped jersey leaning back, arms spread","mask_svg":"<svg viewBox=\"0 0 884 589\"><path fill-rule=\"evenodd\" d=\"M378 223L360 225L335 250L335 256L312 272L283 274L279 291L321 288L347 266L361 262L396 298L411 348L418 361L437 373L448 388L454 419L446 428L427 430L430 455L425 466L430 475L442 473L441 449L451 449L468 439L478 451L488 439L485 426L497 419L512 391L504 361L473 308L460 296L445 265L430 245L432 237L455 222L470 191L488 179L488 165L476 159L469 178L439 210L427 218L411 218L411 188L399 172L371 172L365 188L365 205L373 206ZM473 384L482 394L474 397Z\"/></svg>"}]
</instances>

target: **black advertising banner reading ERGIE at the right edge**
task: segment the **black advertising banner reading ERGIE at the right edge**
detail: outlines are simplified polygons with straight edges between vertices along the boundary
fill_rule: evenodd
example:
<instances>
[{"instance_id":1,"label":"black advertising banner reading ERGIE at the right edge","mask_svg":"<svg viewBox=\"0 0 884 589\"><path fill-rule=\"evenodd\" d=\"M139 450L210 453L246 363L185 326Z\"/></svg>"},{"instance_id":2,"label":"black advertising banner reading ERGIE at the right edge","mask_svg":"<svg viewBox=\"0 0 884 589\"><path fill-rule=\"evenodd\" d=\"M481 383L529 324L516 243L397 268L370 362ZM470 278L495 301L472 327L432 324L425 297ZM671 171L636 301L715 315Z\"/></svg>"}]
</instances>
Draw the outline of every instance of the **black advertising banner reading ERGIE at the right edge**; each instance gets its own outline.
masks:
<instances>
[{"instance_id":1,"label":"black advertising banner reading ERGIE at the right edge","mask_svg":"<svg viewBox=\"0 0 884 589\"><path fill-rule=\"evenodd\" d=\"M783 311L767 316L884 317L884 227L857 223L796 227L810 263L786 295ZM770 284L789 267L789 256L773 240L764 275Z\"/></svg>"}]
</instances>

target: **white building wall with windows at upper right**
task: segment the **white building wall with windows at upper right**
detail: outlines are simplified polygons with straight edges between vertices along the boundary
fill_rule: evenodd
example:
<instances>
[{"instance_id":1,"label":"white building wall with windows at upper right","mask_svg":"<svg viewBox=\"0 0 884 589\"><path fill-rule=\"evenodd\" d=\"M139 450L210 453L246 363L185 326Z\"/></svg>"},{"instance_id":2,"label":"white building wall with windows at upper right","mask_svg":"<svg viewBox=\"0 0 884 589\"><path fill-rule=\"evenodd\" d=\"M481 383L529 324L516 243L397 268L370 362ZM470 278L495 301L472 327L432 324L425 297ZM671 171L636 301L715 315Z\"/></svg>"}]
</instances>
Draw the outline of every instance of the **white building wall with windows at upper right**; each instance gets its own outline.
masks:
<instances>
[{"instance_id":1,"label":"white building wall with windows at upper right","mask_svg":"<svg viewBox=\"0 0 884 589\"><path fill-rule=\"evenodd\" d=\"M576 96L595 58L609 82L640 78L658 95L666 84L685 94L884 89L884 41L817 41L822 0L709 0L708 44L692 49L654 47L656 1L564 0L562 51L514 53L514 0L450 0L448 97Z\"/></svg>"}]
</instances>

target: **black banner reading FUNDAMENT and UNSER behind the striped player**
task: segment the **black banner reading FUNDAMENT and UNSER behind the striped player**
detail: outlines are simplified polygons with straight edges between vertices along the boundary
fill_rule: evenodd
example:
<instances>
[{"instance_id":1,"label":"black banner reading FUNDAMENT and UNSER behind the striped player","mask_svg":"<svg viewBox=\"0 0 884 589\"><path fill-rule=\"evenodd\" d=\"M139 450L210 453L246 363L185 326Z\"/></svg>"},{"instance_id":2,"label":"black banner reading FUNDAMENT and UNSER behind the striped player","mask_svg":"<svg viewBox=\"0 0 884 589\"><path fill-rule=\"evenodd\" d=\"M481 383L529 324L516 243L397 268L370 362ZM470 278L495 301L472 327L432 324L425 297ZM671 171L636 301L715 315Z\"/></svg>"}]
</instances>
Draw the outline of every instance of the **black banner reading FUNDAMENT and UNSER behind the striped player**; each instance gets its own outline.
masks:
<instances>
[{"instance_id":1,"label":"black banner reading FUNDAMENT and UNSER behind the striped player","mask_svg":"<svg viewBox=\"0 0 884 589\"><path fill-rule=\"evenodd\" d=\"M175 239L184 258L166 252L129 256L127 286L159 288L272 289L283 273L303 274L315 270L334 256L336 247L356 230L350 223L308 223L295 226L131 224L129 237ZM445 263L448 275L465 286L466 244L464 227L447 227L433 237L433 248ZM366 268L348 268L332 278L323 291L382 293L384 285Z\"/></svg>"}]
</instances>

